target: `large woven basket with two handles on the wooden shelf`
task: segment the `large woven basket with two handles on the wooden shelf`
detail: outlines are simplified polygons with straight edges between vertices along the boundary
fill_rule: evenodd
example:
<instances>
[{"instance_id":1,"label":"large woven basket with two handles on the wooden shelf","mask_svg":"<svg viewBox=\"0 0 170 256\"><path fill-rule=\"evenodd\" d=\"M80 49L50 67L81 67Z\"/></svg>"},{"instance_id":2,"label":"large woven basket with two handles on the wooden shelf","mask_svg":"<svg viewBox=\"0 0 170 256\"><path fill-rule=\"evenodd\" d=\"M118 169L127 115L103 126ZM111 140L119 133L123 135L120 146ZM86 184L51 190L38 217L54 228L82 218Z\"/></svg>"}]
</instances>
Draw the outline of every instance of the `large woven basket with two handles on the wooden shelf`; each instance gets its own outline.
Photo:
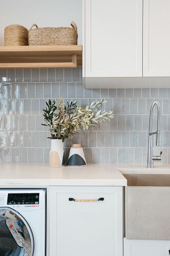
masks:
<instances>
[{"instance_id":1,"label":"large woven basket with two handles on the wooden shelf","mask_svg":"<svg viewBox=\"0 0 170 256\"><path fill-rule=\"evenodd\" d=\"M33 27L36 28L33 29ZM77 26L72 21L71 27L42 27L33 24L29 30L29 45L77 45Z\"/></svg>"}]
</instances>

